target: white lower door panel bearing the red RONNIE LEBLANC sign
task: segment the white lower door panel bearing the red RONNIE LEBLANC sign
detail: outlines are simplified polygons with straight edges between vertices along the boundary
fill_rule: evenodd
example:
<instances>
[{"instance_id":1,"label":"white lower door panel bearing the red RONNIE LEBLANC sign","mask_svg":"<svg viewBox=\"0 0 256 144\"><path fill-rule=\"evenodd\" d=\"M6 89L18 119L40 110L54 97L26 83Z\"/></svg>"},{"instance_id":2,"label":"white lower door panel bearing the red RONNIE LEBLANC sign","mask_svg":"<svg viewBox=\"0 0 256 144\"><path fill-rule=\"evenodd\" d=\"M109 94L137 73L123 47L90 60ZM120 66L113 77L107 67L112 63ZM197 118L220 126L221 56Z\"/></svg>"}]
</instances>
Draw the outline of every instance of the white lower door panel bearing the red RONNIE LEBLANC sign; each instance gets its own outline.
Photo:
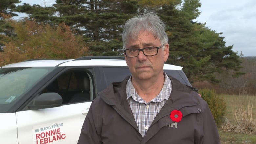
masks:
<instances>
[{"instance_id":1,"label":"white lower door panel bearing the red RONNIE LEBLANC sign","mask_svg":"<svg viewBox=\"0 0 256 144\"><path fill-rule=\"evenodd\" d=\"M19 144L77 143L90 102L16 112Z\"/></svg>"}]
</instances>

